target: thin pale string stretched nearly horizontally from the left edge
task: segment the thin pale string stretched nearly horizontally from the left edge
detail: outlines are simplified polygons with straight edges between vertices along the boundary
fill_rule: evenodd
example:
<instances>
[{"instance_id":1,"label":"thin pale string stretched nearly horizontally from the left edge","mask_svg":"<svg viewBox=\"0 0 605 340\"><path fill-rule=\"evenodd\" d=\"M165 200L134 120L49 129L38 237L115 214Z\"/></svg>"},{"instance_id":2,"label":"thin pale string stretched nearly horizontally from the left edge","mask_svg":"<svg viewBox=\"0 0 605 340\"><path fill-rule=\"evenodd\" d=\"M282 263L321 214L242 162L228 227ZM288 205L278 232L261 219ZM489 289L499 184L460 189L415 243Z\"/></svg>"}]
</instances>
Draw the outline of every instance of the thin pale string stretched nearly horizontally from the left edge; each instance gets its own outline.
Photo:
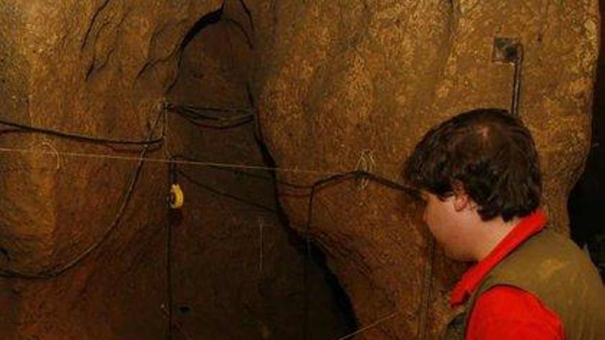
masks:
<instances>
[{"instance_id":1,"label":"thin pale string stretched nearly horizontally from the left edge","mask_svg":"<svg viewBox=\"0 0 605 340\"><path fill-rule=\"evenodd\" d=\"M320 170L305 170L297 168L271 168L267 166L250 166L246 164L235 164L235 163L217 163L208 161L188 161L186 159L166 159L166 158L153 158L153 157L134 157L134 156L122 156L122 155L109 155L109 154L96 154L87 152L63 152L63 151L41 151L32 149L19 149L19 148L2 148L0 152L12 152L12 153L24 153L31 155L61 155L66 157L84 157L84 158L96 158L96 159L114 159L120 161L146 161L149 163L175 163L190 166L209 166L215 168L240 168L249 170L272 170L279 172L299 172L307 174L338 174L340 172L329 172Z\"/></svg>"}]
</instances>

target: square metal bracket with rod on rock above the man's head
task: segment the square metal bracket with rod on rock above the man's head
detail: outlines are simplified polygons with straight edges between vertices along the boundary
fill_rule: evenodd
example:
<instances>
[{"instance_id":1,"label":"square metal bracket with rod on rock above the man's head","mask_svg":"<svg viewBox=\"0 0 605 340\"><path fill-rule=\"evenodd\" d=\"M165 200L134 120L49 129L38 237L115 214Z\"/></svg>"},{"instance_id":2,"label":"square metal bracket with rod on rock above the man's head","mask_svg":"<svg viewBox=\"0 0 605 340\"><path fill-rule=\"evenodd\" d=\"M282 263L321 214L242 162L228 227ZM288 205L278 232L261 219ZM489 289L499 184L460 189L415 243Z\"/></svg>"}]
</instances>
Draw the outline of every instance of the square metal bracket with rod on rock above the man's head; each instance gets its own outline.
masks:
<instances>
[{"instance_id":1,"label":"square metal bracket with rod on rock above the man's head","mask_svg":"<svg viewBox=\"0 0 605 340\"><path fill-rule=\"evenodd\" d=\"M521 69L523 66L523 45L515 38L494 38L492 61L496 63L512 63L515 65L511 115L519 116L519 98L521 93Z\"/></svg>"}]
</instances>

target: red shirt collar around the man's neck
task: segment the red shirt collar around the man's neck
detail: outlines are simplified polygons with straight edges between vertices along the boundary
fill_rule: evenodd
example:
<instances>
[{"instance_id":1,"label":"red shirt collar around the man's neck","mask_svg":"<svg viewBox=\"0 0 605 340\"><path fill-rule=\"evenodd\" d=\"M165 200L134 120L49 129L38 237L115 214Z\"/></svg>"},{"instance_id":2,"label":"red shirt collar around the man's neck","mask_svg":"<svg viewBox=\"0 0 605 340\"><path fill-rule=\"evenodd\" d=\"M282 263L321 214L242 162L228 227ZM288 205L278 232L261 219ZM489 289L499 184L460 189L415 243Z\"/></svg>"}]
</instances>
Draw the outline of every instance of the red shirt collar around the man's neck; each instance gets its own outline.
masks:
<instances>
[{"instance_id":1,"label":"red shirt collar around the man's neck","mask_svg":"<svg viewBox=\"0 0 605 340\"><path fill-rule=\"evenodd\" d=\"M456 284L450 295L450 306L462 304L483 281L483 277L496 267L496 264L500 263L523 241L544 229L546 220L546 215L541 209L522 218L481 262L475 264L462 275L461 280Z\"/></svg>"}]
</instances>

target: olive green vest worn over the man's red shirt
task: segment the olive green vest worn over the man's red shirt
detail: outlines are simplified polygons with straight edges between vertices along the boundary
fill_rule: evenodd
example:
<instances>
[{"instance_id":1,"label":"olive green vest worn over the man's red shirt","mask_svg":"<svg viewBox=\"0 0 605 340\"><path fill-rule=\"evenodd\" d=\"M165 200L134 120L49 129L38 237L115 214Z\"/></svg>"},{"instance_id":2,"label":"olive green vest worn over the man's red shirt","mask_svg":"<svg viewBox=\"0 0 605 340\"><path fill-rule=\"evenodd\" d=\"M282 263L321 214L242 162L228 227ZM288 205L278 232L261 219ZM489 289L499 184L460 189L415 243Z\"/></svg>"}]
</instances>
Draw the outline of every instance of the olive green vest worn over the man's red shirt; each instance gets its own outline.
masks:
<instances>
[{"instance_id":1,"label":"olive green vest worn over the man's red shirt","mask_svg":"<svg viewBox=\"0 0 605 340\"><path fill-rule=\"evenodd\" d=\"M443 339L464 339L476 298L500 284L536 295L560 317L566 340L605 340L605 286L597 269L575 243L549 229L523 242L485 276Z\"/></svg>"}]
</instances>

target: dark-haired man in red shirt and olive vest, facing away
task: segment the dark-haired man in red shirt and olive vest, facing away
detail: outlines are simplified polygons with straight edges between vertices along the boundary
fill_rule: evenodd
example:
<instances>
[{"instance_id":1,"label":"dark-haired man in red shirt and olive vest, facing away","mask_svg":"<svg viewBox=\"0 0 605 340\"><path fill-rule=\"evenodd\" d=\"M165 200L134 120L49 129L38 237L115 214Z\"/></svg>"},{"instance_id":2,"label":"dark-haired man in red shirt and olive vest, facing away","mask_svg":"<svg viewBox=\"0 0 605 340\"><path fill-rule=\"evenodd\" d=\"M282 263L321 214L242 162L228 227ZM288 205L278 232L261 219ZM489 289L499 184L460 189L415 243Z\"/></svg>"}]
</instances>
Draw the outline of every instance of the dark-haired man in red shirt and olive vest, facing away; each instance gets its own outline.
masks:
<instances>
[{"instance_id":1,"label":"dark-haired man in red shirt and olive vest, facing away","mask_svg":"<svg viewBox=\"0 0 605 340\"><path fill-rule=\"evenodd\" d=\"M506 111L478 109L432 128L404 177L445 254L476 262L450 296L463 312L445 339L605 340L605 291L587 256L540 209L538 155Z\"/></svg>"}]
</instances>

